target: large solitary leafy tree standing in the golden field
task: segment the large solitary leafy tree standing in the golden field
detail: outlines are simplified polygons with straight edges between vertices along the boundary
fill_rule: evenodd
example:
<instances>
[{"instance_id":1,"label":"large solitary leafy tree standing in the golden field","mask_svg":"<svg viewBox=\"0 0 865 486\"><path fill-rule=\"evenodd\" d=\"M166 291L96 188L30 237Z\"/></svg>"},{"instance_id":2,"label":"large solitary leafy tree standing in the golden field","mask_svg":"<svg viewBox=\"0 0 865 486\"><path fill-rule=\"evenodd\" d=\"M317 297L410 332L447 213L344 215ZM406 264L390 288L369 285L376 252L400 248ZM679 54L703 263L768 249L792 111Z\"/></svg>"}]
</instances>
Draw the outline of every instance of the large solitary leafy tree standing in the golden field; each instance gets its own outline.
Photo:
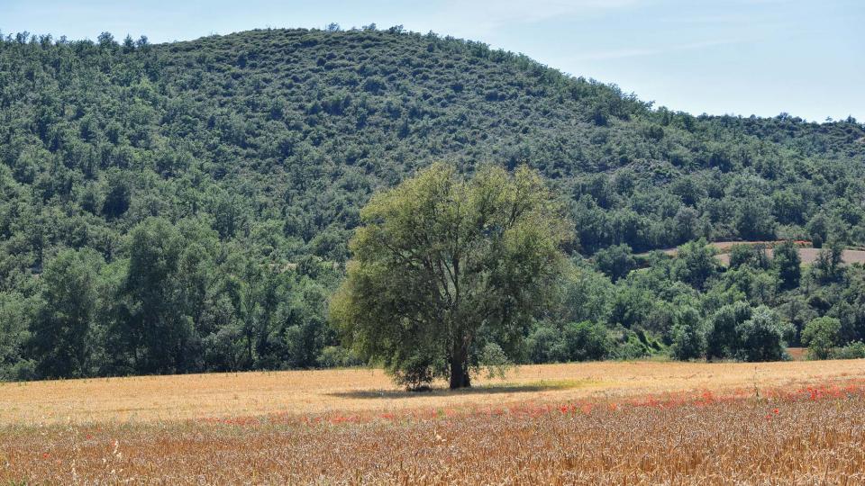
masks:
<instances>
[{"instance_id":1,"label":"large solitary leafy tree standing in the golden field","mask_svg":"<svg viewBox=\"0 0 865 486\"><path fill-rule=\"evenodd\" d=\"M347 344L417 388L471 385L484 343L512 349L568 265L569 220L537 172L435 164L360 212L331 303ZM511 346L508 346L511 345Z\"/></svg>"}]
</instances>

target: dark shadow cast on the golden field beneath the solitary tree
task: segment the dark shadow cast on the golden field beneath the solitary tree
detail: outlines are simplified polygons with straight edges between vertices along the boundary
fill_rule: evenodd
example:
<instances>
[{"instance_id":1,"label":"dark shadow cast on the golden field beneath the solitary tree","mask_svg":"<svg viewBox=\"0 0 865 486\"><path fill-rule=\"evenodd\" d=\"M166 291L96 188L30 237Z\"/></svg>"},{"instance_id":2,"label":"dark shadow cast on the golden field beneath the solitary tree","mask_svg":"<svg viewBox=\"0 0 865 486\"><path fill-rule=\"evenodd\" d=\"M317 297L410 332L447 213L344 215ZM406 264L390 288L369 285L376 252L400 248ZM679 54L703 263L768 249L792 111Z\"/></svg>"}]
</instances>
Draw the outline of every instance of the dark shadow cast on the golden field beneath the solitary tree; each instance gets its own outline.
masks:
<instances>
[{"instance_id":1,"label":"dark shadow cast on the golden field beneath the solitary tree","mask_svg":"<svg viewBox=\"0 0 865 486\"><path fill-rule=\"evenodd\" d=\"M501 393L533 393L551 392L581 388L594 383L590 380L553 380L533 383L502 383L485 384L471 388L451 390L448 388L432 388L423 392L408 390L351 390L350 392L327 393L332 397L350 399L414 399L423 397L451 397L460 395L496 395Z\"/></svg>"}]
</instances>

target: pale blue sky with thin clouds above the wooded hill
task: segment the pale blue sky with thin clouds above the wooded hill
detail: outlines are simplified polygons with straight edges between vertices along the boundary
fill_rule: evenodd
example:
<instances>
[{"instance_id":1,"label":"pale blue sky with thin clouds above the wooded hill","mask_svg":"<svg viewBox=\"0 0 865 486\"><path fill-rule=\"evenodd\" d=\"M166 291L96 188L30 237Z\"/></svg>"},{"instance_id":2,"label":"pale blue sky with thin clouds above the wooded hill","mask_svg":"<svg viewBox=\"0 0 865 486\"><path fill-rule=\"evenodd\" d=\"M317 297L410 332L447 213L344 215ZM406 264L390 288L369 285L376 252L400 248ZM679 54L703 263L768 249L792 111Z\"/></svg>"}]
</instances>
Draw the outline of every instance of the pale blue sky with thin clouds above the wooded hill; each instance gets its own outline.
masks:
<instances>
[{"instance_id":1,"label":"pale blue sky with thin clouds above the wooded hill","mask_svg":"<svg viewBox=\"0 0 865 486\"><path fill-rule=\"evenodd\" d=\"M865 0L0 0L0 31L151 42L375 23L480 40L694 114L865 121Z\"/></svg>"}]
</instances>

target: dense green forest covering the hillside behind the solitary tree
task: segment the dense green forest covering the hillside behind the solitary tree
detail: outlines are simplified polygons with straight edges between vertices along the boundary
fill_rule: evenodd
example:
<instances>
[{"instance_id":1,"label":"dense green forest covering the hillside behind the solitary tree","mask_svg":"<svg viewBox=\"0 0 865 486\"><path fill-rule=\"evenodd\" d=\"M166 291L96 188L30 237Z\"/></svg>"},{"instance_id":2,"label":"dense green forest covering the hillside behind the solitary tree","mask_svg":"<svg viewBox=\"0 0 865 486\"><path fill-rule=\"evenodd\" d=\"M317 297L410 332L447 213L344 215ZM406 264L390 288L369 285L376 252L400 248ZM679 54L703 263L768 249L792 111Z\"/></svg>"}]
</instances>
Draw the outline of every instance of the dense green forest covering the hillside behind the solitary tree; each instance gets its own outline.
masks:
<instances>
[{"instance_id":1,"label":"dense green forest covering the hillside behind the solitary tree","mask_svg":"<svg viewBox=\"0 0 865 486\"><path fill-rule=\"evenodd\" d=\"M0 379L355 364L327 316L347 241L434 161L533 167L569 208L569 284L516 361L775 359L812 320L862 347L852 118L692 116L399 27L23 32L0 41ZM731 239L826 250L721 266L705 240Z\"/></svg>"}]
</instances>

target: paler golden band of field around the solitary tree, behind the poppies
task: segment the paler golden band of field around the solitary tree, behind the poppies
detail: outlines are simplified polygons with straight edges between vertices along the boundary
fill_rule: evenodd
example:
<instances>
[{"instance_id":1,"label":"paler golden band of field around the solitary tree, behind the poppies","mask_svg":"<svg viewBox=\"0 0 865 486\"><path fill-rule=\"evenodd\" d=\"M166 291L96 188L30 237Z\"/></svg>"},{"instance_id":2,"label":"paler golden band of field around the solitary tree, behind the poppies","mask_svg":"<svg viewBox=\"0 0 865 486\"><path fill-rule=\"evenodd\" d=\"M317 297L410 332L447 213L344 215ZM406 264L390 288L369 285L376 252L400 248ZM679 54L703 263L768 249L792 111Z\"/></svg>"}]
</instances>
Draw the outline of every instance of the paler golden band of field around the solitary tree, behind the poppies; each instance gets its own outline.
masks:
<instances>
[{"instance_id":1,"label":"paler golden band of field around the solitary tree, behind the poppies","mask_svg":"<svg viewBox=\"0 0 865 486\"><path fill-rule=\"evenodd\" d=\"M865 377L865 360L532 365L514 368L505 380L480 377L473 390L429 393L404 392L378 369L0 383L0 424L140 422L569 401L694 390L753 390L858 377Z\"/></svg>"}]
</instances>

